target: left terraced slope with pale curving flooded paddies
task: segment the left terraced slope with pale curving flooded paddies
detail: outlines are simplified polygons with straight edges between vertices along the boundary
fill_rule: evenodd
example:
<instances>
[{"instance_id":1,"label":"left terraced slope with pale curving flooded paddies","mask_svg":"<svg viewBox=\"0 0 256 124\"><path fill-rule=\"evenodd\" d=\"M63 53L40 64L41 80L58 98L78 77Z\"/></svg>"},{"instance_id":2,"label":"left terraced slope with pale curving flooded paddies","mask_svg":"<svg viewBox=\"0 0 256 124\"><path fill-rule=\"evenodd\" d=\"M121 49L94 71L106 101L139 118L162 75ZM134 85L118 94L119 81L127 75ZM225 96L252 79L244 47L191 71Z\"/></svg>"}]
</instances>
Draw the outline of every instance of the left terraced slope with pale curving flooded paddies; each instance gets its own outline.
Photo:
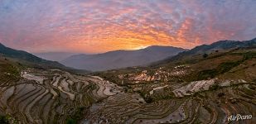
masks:
<instances>
[{"instance_id":1,"label":"left terraced slope with pale curving flooded paddies","mask_svg":"<svg viewBox=\"0 0 256 124\"><path fill-rule=\"evenodd\" d=\"M92 103L122 92L99 77L59 69L22 69L18 74L2 77L0 85L0 115L17 123L76 123Z\"/></svg>"}]
</instances>

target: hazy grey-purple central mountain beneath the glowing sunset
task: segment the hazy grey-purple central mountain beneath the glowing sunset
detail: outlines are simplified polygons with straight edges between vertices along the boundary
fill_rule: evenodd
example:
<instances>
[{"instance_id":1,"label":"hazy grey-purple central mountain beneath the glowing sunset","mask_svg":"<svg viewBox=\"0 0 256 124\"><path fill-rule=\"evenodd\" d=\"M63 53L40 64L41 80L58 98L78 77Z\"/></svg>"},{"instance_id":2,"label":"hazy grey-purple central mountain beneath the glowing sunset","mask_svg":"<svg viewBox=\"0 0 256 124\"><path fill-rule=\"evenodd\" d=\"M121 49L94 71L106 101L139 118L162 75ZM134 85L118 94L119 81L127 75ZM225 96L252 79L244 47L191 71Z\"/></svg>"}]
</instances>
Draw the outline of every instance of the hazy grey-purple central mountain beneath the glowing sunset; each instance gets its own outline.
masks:
<instances>
[{"instance_id":1,"label":"hazy grey-purple central mountain beneath the glowing sunset","mask_svg":"<svg viewBox=\"0 0 256 124\"><path fill-rule=\"evenodd\" d=\"M182 51L185 49L153 45L141 50L114 50L97 55L71 55L60 63L75 69L101 71L150 64Z\"/></svg>"}]
</instances>

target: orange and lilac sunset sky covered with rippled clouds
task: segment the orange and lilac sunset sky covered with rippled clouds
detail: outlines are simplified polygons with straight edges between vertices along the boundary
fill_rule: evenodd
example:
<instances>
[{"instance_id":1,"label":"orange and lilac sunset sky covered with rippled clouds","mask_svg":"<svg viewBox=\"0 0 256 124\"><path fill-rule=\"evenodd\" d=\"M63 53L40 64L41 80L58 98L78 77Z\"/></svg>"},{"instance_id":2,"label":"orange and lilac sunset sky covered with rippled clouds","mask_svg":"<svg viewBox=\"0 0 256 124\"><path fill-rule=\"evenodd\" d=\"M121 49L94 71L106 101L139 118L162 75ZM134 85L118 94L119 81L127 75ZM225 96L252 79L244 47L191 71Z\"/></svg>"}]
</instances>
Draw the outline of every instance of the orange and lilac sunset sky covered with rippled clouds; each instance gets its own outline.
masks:
<instances>
[{"instance_id":1,"label":"orange and lilac sunset sky covered with rippled clouds","mask_svg":"<svg viewBox=\"0 0 256 124\"><path fill-rule=\"evenodd\" d=\"M17 50L191 49L256 37L255 0L0 0L0 42Z\"/></svg>"}]
</instances>

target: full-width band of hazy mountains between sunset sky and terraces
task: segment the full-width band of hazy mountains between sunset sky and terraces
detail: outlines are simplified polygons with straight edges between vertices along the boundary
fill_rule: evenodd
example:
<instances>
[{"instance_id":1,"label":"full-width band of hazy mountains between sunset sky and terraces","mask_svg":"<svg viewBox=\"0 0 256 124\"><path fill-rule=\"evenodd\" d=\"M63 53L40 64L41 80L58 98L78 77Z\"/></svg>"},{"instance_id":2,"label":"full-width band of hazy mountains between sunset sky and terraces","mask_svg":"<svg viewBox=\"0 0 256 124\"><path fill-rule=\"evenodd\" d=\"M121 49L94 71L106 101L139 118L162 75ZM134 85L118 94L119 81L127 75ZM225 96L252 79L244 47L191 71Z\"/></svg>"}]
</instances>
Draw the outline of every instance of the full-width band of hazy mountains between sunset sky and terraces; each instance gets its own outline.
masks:
<instances>
[{"instance_id":1,"label":"full-width band of hazy mountains between sunset sky and terraces","mask_svg":"<svg viewBox=\"0 0 256 124\"><path fill-rule=\"evenodd\" d=\"M221 52L222 50L232 50L243 47L256 47L256 38L250 41L217 41L210 45L196 46L191 50L172 46L153 45L141 50L114 50L97 55L73 55L71 53L61 52L36 54L40 57L23 50L8 48L0 43L0 55L12 58L12 60L16 60L22 64L29 64L35 67L51 67L59 69L75 68L80 70L102 71L149 64L167 64L174 60L187 58L187 56L193 58L193 56L195 57L196 55L210 54L216 51ZM41 59L41 57L47 60ZM59 60L60 63L51 60Z\"/></svg>"}]
</instances>

